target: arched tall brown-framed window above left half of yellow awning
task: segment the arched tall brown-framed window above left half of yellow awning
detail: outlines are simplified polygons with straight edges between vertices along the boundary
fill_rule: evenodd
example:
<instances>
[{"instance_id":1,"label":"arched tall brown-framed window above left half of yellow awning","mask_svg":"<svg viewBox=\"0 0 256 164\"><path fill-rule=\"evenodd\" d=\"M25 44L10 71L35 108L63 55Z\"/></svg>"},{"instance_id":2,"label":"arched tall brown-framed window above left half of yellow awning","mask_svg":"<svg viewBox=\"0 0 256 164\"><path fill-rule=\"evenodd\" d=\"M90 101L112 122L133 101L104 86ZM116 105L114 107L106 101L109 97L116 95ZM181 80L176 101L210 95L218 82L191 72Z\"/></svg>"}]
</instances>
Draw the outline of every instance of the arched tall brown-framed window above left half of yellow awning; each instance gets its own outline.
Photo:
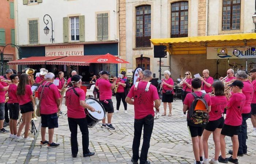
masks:
<instances>
[{"instance_id":1,"label":"arched tall brown-framed window above left half of yellow awning","mask_svg":"<svg viewBox=\"0 0 256 164\"><path fill-rule=\"evenodd\" d=\"M171 38L188 36L188 2L171 5Z\"/></svg>"}]
</instances>

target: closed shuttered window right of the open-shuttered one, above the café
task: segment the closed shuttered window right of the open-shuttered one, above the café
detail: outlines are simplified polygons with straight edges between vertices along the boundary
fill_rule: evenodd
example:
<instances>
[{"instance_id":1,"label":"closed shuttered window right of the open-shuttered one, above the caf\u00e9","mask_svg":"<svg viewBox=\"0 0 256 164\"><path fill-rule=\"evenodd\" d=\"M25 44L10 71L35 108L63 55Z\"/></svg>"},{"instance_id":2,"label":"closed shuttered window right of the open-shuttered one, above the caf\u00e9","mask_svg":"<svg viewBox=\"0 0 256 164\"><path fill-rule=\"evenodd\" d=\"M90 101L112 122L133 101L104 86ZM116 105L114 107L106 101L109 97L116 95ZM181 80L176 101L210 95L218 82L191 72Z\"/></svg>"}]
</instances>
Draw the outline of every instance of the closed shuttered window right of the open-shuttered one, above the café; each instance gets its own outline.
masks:
<instances>
[{"instance_id":1,"label":"closed shuttered window right of the open-shuttered one, above the caf\u00e9","mask_svg":"<svg viewBox=\"0 0 256 164\"><path fill-rule=\"evenodd\" d=\"M108 40L109 39L109 19L108 13L97 14L97 40Z\"/></svg>"}]
</instances>

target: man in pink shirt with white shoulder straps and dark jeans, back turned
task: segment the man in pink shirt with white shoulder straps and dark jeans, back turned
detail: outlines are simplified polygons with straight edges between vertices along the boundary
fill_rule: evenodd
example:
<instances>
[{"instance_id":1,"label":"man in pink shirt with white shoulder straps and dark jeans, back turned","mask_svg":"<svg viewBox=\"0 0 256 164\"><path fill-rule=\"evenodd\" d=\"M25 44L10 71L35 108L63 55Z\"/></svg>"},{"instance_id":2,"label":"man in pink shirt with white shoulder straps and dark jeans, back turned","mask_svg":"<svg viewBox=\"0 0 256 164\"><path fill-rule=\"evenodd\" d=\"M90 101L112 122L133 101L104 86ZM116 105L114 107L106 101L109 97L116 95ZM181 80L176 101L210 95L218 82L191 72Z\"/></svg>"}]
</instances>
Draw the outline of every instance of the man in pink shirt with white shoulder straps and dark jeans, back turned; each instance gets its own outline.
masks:
<instances>
[{"instance_id":1,"label":"man in pink shirt with white shoulder straps and dark jeans, back turned","mask_svg":"<svg viewBox=\"0 0 256 164\"><path fill-rule=\"evenodd\" d=\"M157 88L149 83L151 79L152 72L150 70L144 70L142 81L136 82L138 86L136 86L137 84L133 85L125 98L128 104L134 105L134 137L132 144L133 155L131 159L133 164L138 164L139 159L140 164L150 164L150 161L147 161L147 153L154 126L154 108L159 112L160 106ZM144 128L143 144L139 156L142 128Z\"/></svg>"}]
</instances>

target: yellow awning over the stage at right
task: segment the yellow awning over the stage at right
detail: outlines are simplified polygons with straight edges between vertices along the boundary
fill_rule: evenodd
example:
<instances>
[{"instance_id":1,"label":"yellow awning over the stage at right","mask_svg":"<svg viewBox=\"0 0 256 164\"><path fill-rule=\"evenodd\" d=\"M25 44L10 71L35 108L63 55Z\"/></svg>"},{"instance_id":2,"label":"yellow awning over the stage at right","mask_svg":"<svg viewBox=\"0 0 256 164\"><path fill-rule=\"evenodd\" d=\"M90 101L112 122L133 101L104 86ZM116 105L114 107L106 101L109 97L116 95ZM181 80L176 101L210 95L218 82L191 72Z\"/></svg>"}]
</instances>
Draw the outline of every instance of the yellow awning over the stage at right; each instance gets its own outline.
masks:
<instances>
[{"instance_id":1,"label":"yellow awning over the stage at right","mask_svg":"<svg viewBox=\"0 0 256 164\"><path fill-rule=\"evenodd\" d=\"M206 54L206 47L256 46L256 33L191 36L150 39L154 45L165 45L172 55Z\"/></svg>"}]
</instances>

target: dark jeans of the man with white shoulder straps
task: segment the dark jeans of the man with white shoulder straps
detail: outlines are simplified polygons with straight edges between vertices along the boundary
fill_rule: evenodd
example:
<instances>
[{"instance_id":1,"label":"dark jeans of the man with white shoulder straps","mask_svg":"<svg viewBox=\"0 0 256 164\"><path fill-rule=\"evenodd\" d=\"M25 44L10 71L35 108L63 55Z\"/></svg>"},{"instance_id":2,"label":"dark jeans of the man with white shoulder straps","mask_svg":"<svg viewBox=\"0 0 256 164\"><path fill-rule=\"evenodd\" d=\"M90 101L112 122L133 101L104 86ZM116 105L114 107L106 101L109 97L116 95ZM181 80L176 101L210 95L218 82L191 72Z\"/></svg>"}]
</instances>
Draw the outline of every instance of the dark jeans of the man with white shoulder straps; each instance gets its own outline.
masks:
<instances>
[{"instance_id":1,"label":"dark jeans of the man with white shoulder straps","mask_svg":"<svg viewBox=\"0 0 256 164\"><path fill-rule=\"evenodd\" d=\"M132 158L134 161L140 159L140 164L147 162L147 153L150 147L150 138L154 126L154 117L148 115L142 119L134 119L134 138L132 143ZM143 144L139 157L140 137L143 128Z\"/></svg>"}]
</instances>

